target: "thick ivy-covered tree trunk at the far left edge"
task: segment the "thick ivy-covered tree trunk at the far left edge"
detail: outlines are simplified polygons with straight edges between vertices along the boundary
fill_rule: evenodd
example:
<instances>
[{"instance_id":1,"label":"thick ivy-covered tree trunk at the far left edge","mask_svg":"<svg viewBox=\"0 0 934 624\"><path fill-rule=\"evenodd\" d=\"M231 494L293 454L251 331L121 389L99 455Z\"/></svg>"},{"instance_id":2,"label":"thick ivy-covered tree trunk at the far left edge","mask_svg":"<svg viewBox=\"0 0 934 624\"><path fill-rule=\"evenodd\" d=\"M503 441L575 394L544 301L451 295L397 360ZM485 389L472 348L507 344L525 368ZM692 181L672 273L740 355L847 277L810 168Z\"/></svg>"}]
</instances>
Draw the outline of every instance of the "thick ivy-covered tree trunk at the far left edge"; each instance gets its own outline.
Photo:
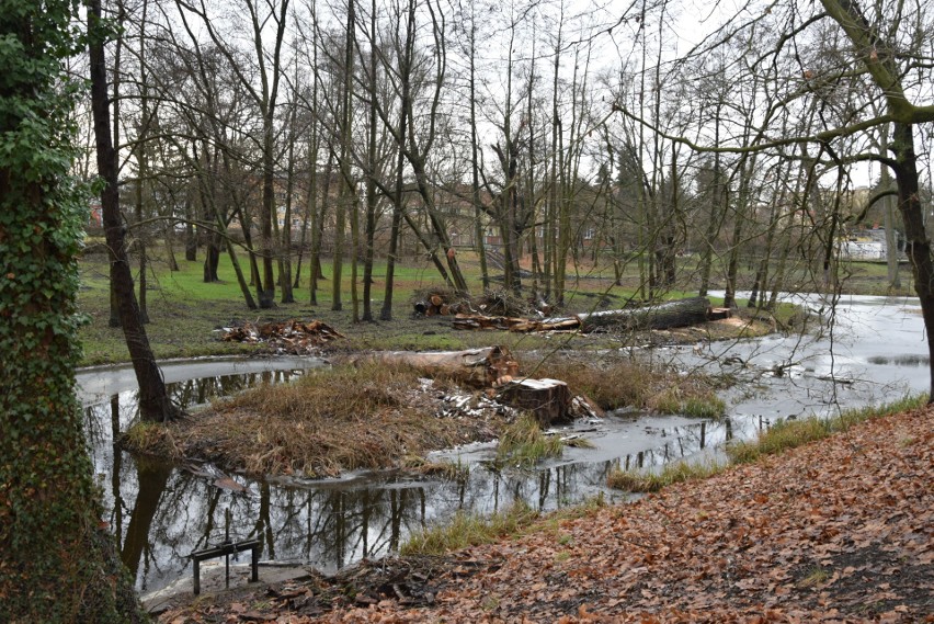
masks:
<instances>
[{"instance_id":1,"label":"thick ivy-covered tree trunk at the far left edge","mask_svg":"<svg viewBox=\"0 0 934 624\"><path fill-rule=\"evenodd\" d=\"M75 397L86 195L62 59L70 0L0 0L0 622L141 619Z\"/></svg>"}]
</instances>

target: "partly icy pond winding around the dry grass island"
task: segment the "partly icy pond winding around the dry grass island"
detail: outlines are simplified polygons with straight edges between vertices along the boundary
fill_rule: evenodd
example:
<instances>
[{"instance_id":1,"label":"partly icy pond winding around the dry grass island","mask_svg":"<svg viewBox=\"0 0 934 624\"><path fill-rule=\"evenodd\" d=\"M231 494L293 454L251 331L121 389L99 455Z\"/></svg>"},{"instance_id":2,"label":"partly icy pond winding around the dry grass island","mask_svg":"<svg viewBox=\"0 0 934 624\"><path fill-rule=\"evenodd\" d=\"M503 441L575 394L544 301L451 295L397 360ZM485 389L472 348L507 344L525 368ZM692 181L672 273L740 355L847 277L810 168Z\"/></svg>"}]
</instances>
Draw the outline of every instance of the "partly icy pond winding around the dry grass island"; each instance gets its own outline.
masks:
<instances>
[{"instance_id":1,"label":"partly icy pond winding around the dry grass island","mask_svg":"<svg viewBox=\"0 0 934 624\"><path fill-rule=\"evenodd\" d=\"M812 307L820 299L805 299ZM340 479L248 479L205 466L137 462L114 452L115 431L136 417L130 368L79 372L91 453L107 515L124 561L143 592L191 576L187 555L224 540L260 538L264 561L309 564L334 571L398 548L409 534L458 511L491 513L516 499L535 509L578 503L607 490L615 466L660 466L717 453L722 442L749 439L777 419L824 413L901 398L927 389L927 355L918 306L911 299L850 297L812 337L771 336L680 347L643 355L687 374L728 372L740 384L728 393L728 417L704 421L681 416L617 412L571 429L594 449L567 449L535 469L494 469L490 444L440 453L469 467L457 481L399 473L354 473ZM259 383L314 374L315 358L198 360L163 364L175 399L192 407L213 396ZM249 555L241 556L243 560ZM262 574L261 574L262 576Z\"/></svg>"}]
</instances>

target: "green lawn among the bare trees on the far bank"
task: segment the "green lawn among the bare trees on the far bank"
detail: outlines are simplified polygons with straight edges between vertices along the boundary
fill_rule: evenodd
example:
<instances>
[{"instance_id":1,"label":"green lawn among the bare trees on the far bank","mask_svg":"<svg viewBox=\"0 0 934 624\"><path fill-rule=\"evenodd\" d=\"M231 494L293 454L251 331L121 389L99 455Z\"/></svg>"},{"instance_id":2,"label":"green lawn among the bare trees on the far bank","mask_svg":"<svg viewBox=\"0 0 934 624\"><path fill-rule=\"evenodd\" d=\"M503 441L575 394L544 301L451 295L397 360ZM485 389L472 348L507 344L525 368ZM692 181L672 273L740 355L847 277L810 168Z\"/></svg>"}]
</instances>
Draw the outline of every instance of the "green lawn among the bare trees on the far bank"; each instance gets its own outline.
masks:
<instances>
[{"instance_id":1,"label":"green lawn among the bare trees on the far bank","mask_svg":"<svg viewBox=\"0 0 934 624\"><path fill-rule=\"evenodd\" d=\"M149 252L152 257L147 273L147 298L151 322L146 329L158 359L251 353L257 350L255 347L221 342L217 340L214 330L236 320L269 321L288 318L318 318L331 325L348 336L346 341L341 342L342 347L335 348L348 350L460 350L487 347L491 341L514 352L551 350L557 342L560 342L560 349L594 350L624 347L633 339L627 332L601 336L568 333L558 339L515 332L452 331L449 318L412 319L411 303L418 293L446 288L434 266L423 258L410 258L396 266L391 322L355 324L350 296L350 271L344 271L341 287L343 309L334 310L331 263L327 259L323 263L324 279L319 282L316 305L309 303L306 262L299 287L295 290L296 303L277 303L274 309L249 310L226 254L221 256L218 266L221 281L205 284L201 261L185 261L182 254L178 253L180 271L173 272L169 271L167 262L159 257L164 253L161 243L151 245ZM459 253L458 258L471 293L479 294L479 261L466 250ZM107 326L110 302L105 257L89 253L80 260L79 266L79 307L90 319L81 329L84 345L82 365L127 362L129 354L123 332L118 328ZM566 305L560 314L590 311L597 304L601 307L624 305L631 297L638 282L638 275L633 273L636 269L629 266L628 271L624 276L626 285L614 286L611 280L612 265L608 262L599 266L582 265L580 270L569 268ZM377 316L381 307L384 286L385 264L378 262L374 268L372 291L372 305ZM362 294L362 287L358 287L358 291ZM688 294L692 293L672 291L667 297Z\"/></svg>"}]
</instances>

